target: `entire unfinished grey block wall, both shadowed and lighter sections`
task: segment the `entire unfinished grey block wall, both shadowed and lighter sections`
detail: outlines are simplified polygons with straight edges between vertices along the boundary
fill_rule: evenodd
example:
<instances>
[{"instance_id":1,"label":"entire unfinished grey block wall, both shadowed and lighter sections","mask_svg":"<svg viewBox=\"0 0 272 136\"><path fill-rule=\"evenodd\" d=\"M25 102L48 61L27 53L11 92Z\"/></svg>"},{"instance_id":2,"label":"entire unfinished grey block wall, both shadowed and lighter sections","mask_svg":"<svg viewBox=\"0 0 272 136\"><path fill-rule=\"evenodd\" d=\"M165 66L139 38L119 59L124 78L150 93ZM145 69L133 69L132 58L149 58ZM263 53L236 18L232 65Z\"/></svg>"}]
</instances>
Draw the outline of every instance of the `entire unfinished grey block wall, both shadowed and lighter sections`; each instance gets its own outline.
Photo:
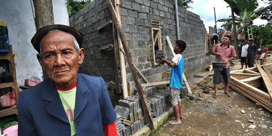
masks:
<instances>
[{"instance_id":1,"label":"entire unfinished grey block wall, both shadowed and lighter sections","mask_svg":"<svg viewBox=\"0 0 272 136\"><path fill-rule=\"evenodd\" d=\"M199 16L183 8L179 13L179 37L187 43L182 53L185 59L184 74L192 77L211 64L213 57L206 54L205 26ZM122 29L135 66L149 82L166 81L170 79L171 67L167 64L154 65L152 28L161 29L162 49L164 56L172 58L166 36L169 36L172 46L177 39L174 5L165 0L121 0L120 14ZM80 65L80 72L101 76L109 83L115 82L112 48L99 51L100 47L112 44L111 27L100 31L97 28L111 20L111 14L105 0L97 0L70 18L72 27L84 34L83 47L85 61ZM160 25L151 24L151 20L160 21ZM130 94L134 94L135 85L126 62L126 78L130 84ZM141 83L146 83L140 75Z\"/></svg>"}]
</instances>

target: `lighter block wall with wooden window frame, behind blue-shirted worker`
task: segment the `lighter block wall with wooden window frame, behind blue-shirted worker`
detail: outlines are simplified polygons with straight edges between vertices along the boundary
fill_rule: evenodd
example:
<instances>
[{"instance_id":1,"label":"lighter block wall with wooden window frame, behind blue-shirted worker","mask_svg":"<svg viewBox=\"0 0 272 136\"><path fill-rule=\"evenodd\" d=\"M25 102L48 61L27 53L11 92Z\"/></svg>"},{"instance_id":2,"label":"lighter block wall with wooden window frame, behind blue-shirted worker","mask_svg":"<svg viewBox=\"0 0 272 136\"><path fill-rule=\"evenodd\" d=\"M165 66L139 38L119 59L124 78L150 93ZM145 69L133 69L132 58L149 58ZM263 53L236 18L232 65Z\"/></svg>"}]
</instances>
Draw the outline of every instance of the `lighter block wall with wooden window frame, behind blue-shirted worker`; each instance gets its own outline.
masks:
<instances>
[{"instance_id":1,"label":"lighter block wall with wooden window frame, behind blue-shirted worker","mask_svg":"<svg viewBox=\"0 0 272 136\"><path fill-rule=\"evenodd\" d=\"M201 71L204 65L210 63L212 56L206 55L205 26L200 17L183 8L178 11L180 39L187 43L186 50L182 53L185 59L184 73L192 77ZM174 46L177 39L174 5L164 0L121 0L120 14L134 65L149 82L169 80L171 67L167 64L153 64L152 28L161 29L164 55L168 59L172 58L166 36L169 36ZM151 20L160 21L160 25L151 24ZM128 65L126 67L127 81L130 83L130 90L133 90L135 85ZM140 81L145 83L141 76L139 77Z\"/></svg>"}]
</instances>

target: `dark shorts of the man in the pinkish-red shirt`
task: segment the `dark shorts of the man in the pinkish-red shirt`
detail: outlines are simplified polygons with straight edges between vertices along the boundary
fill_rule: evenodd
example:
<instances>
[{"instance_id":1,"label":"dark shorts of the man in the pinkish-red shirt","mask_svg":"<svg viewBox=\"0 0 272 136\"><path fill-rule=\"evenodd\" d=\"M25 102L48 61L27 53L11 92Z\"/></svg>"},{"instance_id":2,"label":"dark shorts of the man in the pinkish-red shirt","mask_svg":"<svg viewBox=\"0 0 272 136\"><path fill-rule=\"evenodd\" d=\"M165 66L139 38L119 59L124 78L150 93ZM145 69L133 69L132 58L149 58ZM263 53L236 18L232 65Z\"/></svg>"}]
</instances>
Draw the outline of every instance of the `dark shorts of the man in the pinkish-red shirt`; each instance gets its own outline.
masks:
<instances>
[{"instance_id":1,"label":"dark shorts of the man in the pinkish-red shirt","mask_svg":"<svg viewBox=\"0 0 272 136\"><path fill-rule=\"evenodd\" d=\"M221 75L224 79L225 84L230 84L230 69L223 68L222 71L215 71L214 73L214 84L221 83Z\"/></svg>"}]
</instances>

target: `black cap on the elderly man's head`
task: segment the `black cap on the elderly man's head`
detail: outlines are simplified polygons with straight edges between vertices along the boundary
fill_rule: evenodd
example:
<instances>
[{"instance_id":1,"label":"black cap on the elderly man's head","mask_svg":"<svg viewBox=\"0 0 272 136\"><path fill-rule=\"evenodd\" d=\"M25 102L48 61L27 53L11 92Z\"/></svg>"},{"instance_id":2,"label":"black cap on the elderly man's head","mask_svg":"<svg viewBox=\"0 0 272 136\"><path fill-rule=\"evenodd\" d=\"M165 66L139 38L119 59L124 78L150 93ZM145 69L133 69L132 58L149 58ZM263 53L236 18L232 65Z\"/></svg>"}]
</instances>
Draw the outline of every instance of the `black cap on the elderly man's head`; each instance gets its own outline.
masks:
<instances>
[{"instance_id":1,"label":"black cap on the elderly man's head","mask_svg":"<svg viewBox=\"0 0 272 136\"><path fill-rule=\"evenodd\" d=\"M39 29L36 34L33 36L33 38L31 39L31 43L33 45L33 47L39 52L40 52L40 42L41 39L48 34L48 32L52 31L52 30L60 30L66 33L70 33L72 34L77 42L79 43L79 46L81 47L82 42L83 42L83 34L81 32L79 32L78 30L76 30L75 28L72 28L70 26L65 26L65 25L49 25L49 26L45 26L41 29Z\"/></svg>"}]
</instances>

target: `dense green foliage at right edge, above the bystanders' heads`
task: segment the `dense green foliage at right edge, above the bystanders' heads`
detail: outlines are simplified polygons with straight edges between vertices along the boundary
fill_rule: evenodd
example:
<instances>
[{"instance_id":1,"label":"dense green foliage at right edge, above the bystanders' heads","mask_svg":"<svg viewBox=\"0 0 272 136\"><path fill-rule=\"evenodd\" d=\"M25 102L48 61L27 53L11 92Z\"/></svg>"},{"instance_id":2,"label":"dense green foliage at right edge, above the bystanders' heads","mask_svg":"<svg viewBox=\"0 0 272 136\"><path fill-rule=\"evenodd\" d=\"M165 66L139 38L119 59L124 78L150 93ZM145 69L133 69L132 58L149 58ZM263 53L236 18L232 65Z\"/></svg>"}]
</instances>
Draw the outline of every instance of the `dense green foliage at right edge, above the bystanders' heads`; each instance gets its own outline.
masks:
<instances>
[{"instance_id":1,"label":"dense green foliage at right edge, above the bystanders' heads","mask_svg":"<svg viewBox=\"0 0 272 136\"><path fill-rule=\"evenodd\" d=\"M252 32L254 35L254 43L260 45L272 44L272 26L271 25L260 25L252 26Z\"/></svg>"}]
</instances>

